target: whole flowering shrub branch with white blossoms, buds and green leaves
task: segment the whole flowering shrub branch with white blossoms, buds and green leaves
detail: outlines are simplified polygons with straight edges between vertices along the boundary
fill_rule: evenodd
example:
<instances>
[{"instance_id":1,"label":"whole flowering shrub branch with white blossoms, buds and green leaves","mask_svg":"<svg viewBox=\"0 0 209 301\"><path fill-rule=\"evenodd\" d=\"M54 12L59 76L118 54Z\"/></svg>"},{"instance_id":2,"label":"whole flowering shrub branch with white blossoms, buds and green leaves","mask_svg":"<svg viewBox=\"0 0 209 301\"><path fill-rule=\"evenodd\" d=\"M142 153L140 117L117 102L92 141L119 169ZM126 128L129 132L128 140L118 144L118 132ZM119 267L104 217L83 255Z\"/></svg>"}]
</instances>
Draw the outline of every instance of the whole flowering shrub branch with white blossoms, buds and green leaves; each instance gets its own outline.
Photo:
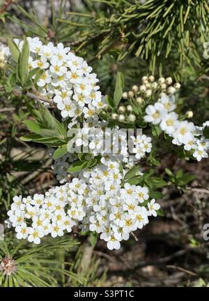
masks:
<instances>
[{"instance_id":1,"label":"whole flowering shrub branch with white blossoms, buds and green leaves","mask_svg":"<svg viewBox=\"0 0 209 301\"><path fill-rule=\"evenodd\" d=\"M209 122L195 126L186 120L188 112L177 113L174 94L180 84L172 85L171 78L145 76L127 93L118 72L111 98L102 96L92 68L70 47L43 45L39 38L8 45L6 91L35 99L26 103L33 120L24 121L32 133L22 140L50 148L61 184L45 195L15 196L8 227L15 228L17 239L40 244L45 235L63 236L77 225L82 233L100 235L108 249L119 249L132 231L162 215L155 198L167 182L154 168L141 170L142 162L158 166L162 145L179 158L207 158ZM137 133L139 128L144 133ZM127 129L132 129L129 139Z\"/></svg>"}]
</instances>

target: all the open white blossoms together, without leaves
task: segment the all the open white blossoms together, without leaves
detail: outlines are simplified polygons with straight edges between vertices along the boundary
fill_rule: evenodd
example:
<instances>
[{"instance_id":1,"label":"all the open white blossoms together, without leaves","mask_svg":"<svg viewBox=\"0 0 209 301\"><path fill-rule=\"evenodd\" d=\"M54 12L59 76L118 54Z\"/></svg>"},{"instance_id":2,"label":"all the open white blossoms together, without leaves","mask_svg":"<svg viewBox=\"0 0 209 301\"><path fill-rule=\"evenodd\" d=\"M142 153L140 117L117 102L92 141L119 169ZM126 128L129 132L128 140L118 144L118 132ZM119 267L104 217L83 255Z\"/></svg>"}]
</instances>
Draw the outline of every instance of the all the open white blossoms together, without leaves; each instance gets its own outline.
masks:
<instances>
[{"instance_id":1,"label":"all the open white blossoms together, without leaves","mask_svg":"<svg viewBox=\"0 0 209 301\"><path fill-rule=\"evenodd\" d=\"M62 236L65 232L70 233L73 226L79 226L85 232L98 233L100 239L107 242L108 249L119 249L122 240L127 240L137 228L143 228L149 217L157 216L157 210L160 210L146 186L124 181L125 172L134 166L134 161L151 152L152 139L144 134L132 135L130 152L127 132L115 126L113 130L117 131L120 145L118 147L118 140L113 139L111 149L117 146L118 152L109 154L104 147L102 130L106 124L98 117L107 103L99 91L97 75L91 73L92 68L62 43L54 46L52 43L43 45L39 38L27 40L29 71L34 68L43 71L37 86L40 95L47 99L44 104L56 105L63 121L70 118L68 129L78 129L77 147L88 145L90 155L100 155L101 159L97 166L74 173L71 182L68 182L68 168L78 160L77 153L68 152L56 159L52 169L61 186L49 189L45 195L15 196L6 223L9 228L15 228L17 239L27 239L35 244L40 244L45 235ZM14 41L21 51L23 41ZM8 47L3 53L6 59L10 57ZM203 136L203 129L209 122L195 126L180 120L174 110L175 97L162 93L156 103L146 107L143 118L146 123L159 125L174 145L183 145L197 161L208 157L209 140ZM81 120L87 126L81 126ZM135 121L135 117L132 120ZM52 155L54 150L49 152Z\"/></svg>"}]
</instances>

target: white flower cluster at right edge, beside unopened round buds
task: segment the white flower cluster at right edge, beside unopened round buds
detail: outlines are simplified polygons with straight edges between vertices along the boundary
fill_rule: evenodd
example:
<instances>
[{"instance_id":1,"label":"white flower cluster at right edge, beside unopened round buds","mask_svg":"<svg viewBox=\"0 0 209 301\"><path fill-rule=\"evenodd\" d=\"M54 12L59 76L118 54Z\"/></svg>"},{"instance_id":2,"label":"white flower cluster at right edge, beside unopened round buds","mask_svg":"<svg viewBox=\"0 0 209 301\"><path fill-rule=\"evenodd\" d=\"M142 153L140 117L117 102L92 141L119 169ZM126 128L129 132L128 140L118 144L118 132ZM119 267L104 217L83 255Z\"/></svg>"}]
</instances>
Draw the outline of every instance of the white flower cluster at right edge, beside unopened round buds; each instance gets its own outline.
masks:
<instances>
[{"instance_id":1,"label":"white flower cluster at right edge, beside unopened round buds","mask_svg":"<svg viewBox=\"0 0 209 301\"><path fill-rule=\"evenodd\" d=\"M181 121L178 114L173 112L175 109L175 97L162 94L154 105L148 105L144 120L155 125L159 124L160 129L173 138L174 145L183 145L185 150L192 151L197 161L208 158L209 139L203 136L207 122L199 127L193 122Z\"/></svg>"}]
</instances>

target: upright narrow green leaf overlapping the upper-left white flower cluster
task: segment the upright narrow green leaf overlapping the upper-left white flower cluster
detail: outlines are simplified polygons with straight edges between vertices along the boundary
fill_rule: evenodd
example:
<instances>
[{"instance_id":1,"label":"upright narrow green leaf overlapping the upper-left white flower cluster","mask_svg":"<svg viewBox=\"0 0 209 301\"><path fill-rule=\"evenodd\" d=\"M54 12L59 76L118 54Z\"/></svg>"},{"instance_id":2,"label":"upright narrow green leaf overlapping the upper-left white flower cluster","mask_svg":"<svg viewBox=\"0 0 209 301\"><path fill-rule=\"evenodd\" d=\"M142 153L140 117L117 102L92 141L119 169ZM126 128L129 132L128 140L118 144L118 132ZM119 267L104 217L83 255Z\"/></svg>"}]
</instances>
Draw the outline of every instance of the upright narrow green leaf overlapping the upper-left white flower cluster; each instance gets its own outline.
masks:
<instances>
[{"instance_id":1,"label":"upright narrow green leaf overlapping the upper-left white flower cluster","mask_svg":"<svg viewBox=\"0 0 209 301\"><path fill-rule=\"evenodd\" d=\"M29 43L26 38L24 38L24 44L22 46L22 51L20 53L18 62L18 74L22 85L26 82L28 76L28 64L29 64Z\"/></svg>"}]
</instances>

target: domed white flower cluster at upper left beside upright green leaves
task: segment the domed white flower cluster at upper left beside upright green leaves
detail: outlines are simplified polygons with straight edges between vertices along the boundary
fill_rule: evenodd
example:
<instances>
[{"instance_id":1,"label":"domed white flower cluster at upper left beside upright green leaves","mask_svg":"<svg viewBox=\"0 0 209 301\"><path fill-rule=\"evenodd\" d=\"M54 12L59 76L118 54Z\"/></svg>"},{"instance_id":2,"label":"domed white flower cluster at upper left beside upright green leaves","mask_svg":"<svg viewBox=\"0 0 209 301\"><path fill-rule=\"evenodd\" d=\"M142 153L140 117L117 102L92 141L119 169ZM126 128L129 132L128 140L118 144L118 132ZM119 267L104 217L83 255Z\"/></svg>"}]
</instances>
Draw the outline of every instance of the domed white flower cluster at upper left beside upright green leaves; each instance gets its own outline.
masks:
<instances>
[{"instance_id":1,"label":"domed white flower cluster at upper left beside upright green leaves","mask_svg":"<svg viewBox=\"0 0 209 301\"><path fill-rule=\"evenodd\" d=\"M40 94L47 100L56 103L63 118L72 120L83 115L85 119L97 117L98 110L105 107L104 96L98 91L98 78L91 73L82 57L70 52L70 47L62 43L43 45L39 38L27 38L29 42L29 71L42 69L43 73L37 82ZM14 39L20 51L24 41ZM8 47L4 49L10 56ZM47 103L45 103L47 104Z\"/></svg>"}]
</instances>

